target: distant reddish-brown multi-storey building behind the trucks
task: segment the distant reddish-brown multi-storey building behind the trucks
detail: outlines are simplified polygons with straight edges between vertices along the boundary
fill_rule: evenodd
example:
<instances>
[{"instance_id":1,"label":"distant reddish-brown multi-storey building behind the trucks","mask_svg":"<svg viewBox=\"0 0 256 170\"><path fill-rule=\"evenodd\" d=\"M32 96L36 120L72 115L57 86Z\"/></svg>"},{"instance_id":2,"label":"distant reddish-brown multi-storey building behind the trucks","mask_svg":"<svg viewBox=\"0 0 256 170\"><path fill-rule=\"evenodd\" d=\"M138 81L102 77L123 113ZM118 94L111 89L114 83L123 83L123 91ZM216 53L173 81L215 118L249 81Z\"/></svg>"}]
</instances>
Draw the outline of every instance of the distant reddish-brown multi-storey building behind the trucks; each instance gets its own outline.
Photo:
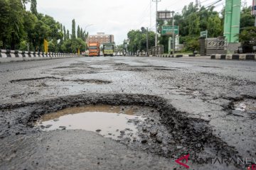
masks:
<instances>
[{"instance_id":1,"label":"distant reddish-brown multi-storey building behind the trucks","mask_svg":"<svg viewBox=\"0 0 256 170\"><path fill-rule=\"evenodd\" d=\"M102 43L108 43L108 42L114 42L114 35L107 35L105 33L97 33L97 35L89 35L86 42L100 42Z\"/></svg>"}]
</instances>

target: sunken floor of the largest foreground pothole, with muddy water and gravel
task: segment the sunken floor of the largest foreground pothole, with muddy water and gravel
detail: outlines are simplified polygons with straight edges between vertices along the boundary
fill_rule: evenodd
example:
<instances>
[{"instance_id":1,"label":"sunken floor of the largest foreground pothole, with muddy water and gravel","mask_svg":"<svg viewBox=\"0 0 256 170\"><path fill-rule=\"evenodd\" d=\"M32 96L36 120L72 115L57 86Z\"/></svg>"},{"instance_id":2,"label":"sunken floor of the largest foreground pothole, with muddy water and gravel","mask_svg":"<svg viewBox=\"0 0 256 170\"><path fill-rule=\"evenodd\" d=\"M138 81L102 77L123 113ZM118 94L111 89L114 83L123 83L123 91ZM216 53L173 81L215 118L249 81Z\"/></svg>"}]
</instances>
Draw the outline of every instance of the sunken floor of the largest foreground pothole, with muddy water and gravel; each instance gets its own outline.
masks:
<instances>
[{"instance_id":1,"label":"sunken floor of the largest foreground pothole, with muddy water and gravel","mask_svg":"<svg viewBox=\"0 0 256 170\"><path fill-rule=\"evenodd\" d=\"M33 126L43 131L97 132L133 149L141 148L161 155L171 154L177 149L174 137L161 123L159 112L148 106L86 105L65 108L42 115Z\"/></svg>"}]
</instances>

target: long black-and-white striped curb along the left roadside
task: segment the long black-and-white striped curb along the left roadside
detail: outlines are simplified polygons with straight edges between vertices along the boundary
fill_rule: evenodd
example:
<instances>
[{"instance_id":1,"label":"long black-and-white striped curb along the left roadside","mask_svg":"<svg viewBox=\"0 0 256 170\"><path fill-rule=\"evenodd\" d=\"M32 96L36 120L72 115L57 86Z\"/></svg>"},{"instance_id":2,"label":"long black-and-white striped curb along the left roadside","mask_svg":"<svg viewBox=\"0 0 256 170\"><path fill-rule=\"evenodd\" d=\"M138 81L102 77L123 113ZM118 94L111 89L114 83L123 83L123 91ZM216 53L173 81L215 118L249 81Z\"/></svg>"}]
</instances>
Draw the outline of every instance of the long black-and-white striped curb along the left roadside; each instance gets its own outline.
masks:
<instances>
[{"instance_id":1,"label":"long black-and-white striped curb along the left roadside","mask_svg":"<svg viewBox=\"0 0 256 170\"><path fill-rule=\"evenodd\" d=\"M16 62L28 60L46 60L54 58L76 57L78 55L53 52L28 52L18 50L0 50L0 62Z\"/></svg>"}]
</instances>

